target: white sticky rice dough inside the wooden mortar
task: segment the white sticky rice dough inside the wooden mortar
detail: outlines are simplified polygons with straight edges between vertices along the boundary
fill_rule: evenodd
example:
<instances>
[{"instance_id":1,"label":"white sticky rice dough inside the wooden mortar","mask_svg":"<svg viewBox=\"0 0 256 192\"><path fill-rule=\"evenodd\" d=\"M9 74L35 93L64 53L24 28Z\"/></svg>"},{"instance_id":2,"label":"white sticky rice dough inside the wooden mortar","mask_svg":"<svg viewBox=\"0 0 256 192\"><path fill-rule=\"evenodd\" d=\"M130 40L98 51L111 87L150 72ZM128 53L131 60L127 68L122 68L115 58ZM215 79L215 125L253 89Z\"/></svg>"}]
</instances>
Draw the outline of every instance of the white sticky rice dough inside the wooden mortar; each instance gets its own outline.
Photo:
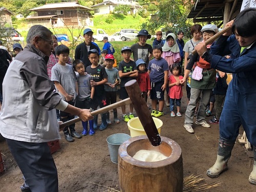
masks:
<instances>
[{"instance_id":1,"label":"white sticky rice dough inside the wooden mortar","mask_svg":"<svg viewBox=\"0 0 256 192\"><path fill-rule=\"evenodd\" d=\"M166 159L167 157L160 152L150 150L140 150L134 156L134 159L146 162L155 162Z\"/></svg>"}]
</instances>

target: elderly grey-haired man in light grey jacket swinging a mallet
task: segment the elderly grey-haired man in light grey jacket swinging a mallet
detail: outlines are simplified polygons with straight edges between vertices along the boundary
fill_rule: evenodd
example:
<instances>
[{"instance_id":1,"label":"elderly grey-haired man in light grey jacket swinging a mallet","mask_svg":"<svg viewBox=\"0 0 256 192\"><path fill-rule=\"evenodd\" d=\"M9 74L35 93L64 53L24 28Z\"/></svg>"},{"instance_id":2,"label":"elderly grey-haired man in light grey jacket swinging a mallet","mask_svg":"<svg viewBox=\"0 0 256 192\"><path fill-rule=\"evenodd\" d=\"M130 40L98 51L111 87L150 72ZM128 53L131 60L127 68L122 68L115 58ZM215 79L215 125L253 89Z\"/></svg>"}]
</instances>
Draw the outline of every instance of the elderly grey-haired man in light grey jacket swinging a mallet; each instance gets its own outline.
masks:
<instances>
[{"instance_id":1,"label":"elderly grey-haired man in light grey jacket swinging a mallet","mask_svg":"<svg viewBox=\"0 0 256 192\"><path fill-rule=\"evenodd\" d=\"M82 121L93 119L89 110L75 108L56 93L47 75L53 43L49 29L32 26L27 46L12 61L3 82L0 133L24 175L22 191L58 191L57 169L47 144L60 139L55 109Z\"/></svg>"}]
</instances>

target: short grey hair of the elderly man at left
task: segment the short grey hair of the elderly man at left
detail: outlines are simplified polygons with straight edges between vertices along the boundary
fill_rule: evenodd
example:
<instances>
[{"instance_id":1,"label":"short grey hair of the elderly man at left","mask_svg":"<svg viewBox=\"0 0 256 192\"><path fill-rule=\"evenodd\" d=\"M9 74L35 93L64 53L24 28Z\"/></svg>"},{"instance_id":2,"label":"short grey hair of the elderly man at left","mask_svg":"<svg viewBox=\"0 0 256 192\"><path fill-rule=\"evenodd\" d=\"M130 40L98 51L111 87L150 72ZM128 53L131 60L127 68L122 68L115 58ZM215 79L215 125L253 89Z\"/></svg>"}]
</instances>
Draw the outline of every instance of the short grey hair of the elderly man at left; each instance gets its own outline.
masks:
<instances>
[{"instance_id":1,"label":"short grey hair of the elderly man at left","mask_svg":"<svg viewBox=\"0 0 256 192\"><path fill-rule=\"evenodd\" d=\"M46 27L41 25L34 25L29 29L26 41L27 41L27 44L31 44L35 36L39 36L41 38L47 39L48 36L52 34L53 33Z\"/></svg>"}]
</instances>

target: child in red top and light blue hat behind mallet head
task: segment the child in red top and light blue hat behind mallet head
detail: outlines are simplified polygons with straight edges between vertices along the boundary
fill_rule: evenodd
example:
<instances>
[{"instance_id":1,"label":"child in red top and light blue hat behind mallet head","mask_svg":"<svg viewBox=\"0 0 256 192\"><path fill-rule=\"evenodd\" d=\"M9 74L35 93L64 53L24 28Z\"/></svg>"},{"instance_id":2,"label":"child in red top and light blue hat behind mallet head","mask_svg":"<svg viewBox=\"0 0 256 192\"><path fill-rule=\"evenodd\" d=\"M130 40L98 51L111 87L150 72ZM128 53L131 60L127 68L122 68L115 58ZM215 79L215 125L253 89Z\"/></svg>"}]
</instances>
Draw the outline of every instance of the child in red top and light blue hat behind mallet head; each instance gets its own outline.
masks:
<instances>
[{"instance_id":1,"label":"child in red top and light blue hat behind mallet head","mask_svg":"<svg viewBox=\"0 0 256 192\"><path fill-rule=\"evenodd\" d=\"M147 101L147 97L150 96L150 91L151 91L150 75L145 71L146 63L143 59L138 59L136 61L136 66L139 72L139 76L137 77L137 82L139 84L143 98L145 99L145 101Z\"/></svg>"}]
</instances>

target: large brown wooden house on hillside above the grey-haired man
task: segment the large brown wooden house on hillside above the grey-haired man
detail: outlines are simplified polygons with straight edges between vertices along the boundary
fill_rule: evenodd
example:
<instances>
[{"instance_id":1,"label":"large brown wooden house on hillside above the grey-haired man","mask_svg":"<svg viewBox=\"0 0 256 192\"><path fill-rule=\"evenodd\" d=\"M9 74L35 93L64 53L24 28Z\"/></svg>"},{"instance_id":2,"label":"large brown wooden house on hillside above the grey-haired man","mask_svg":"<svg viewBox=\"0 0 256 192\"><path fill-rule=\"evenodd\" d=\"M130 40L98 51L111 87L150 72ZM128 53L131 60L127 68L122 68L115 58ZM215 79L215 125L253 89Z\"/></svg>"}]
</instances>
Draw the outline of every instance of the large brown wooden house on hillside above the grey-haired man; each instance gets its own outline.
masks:
<instances>
[{"instance_id":1,"label":"large brown wooden house on hillside above the grey-haired man","mask_svg":"<svg viewBox=\"0 0 256 192\"><path fill-rule=\"evenodd\" d=\"M30 9L33 15L26 17L29 26L43 25L45 27L89 26L93 25L92 9L79 5L77 2L62 2L46 4Z\"/></svg>"}]
</instances>

